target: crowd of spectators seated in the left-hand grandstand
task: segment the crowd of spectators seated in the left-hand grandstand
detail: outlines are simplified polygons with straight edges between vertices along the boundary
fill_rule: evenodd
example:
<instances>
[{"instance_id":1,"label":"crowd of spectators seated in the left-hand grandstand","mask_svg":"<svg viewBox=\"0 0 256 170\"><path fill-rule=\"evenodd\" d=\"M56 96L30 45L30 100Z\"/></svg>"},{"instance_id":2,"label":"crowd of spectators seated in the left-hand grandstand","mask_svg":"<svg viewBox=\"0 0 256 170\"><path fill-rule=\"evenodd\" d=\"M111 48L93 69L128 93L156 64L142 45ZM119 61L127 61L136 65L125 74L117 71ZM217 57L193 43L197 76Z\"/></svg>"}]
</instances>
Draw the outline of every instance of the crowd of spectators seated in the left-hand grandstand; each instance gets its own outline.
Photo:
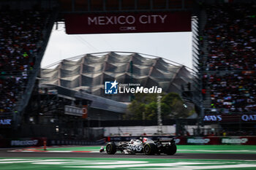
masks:
<instances>
[{"instance_id":1,"label":"crowd of spectators seated in the left-hand grandstand","mask_svg":"<svg viewBox=\"0 0 256 170\"><path fill-rule=\"evenodd\" d=\"M0 12L0 113L13 112L34 69L47 12Z\"/></svg>"}]
</instances>

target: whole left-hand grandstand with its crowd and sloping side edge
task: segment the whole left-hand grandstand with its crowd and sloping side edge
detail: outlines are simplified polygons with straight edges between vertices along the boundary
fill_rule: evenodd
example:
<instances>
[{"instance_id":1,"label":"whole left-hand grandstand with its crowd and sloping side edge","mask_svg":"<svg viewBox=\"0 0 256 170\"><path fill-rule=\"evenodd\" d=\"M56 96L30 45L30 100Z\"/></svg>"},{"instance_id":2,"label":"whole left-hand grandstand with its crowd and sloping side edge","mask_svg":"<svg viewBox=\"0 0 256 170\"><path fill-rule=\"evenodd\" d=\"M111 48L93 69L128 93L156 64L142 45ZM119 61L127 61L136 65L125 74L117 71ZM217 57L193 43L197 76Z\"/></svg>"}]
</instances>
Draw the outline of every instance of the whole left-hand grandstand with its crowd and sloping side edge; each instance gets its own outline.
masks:
<instances>
[{"instance_id":1,"label":"whole left-hand grandstand with its crowd and sloping side edge","mask_svg":"<svg viewBox=\"0 0 256 170\"><path fill-rule=\"evenodd\" d=\"M50 3L12 4L1 1L0 19L0 117L15 128L29 102L40 62L57 16Z\"/></svg>"}]
</instances>

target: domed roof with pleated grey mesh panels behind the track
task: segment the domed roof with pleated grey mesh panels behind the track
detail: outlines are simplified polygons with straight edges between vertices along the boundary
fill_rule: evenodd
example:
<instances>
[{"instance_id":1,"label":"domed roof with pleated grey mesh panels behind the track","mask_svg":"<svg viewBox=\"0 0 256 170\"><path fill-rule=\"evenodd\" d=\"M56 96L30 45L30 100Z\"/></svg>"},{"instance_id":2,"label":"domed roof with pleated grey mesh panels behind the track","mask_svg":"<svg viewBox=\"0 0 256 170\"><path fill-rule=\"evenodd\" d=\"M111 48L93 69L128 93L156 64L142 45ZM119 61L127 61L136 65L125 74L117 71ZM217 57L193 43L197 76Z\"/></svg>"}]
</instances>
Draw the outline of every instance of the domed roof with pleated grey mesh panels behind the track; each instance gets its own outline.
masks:
<instances>
[{"instance_id":1,"label":"domed roof with pleated grey mesh panels behind the track","mask_svg":"<svg viewBox=\"0 0 256 170\"><path fill-rule=\"evenodd\" d=\"M58 85L115 101L130 94L105 94L105 81L157 86L165 93L181 93L192 80L186 66L153 55L127 52L91 53L65 59L41 69L40 84Z\"/></svg>"}]
</instances>

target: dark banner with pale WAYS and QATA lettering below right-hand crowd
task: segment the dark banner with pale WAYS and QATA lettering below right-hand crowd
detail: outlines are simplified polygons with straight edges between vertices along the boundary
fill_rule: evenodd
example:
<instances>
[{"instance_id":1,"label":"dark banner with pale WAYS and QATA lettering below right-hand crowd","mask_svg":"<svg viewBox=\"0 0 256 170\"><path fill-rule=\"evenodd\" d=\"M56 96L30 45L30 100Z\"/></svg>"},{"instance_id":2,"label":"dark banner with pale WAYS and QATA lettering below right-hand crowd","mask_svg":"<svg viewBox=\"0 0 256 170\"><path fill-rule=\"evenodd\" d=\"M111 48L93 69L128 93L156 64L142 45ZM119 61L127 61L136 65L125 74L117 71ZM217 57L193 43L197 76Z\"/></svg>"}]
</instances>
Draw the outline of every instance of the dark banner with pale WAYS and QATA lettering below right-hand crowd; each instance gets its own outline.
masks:
<instances>
[{"instance_id":1,"label":"dark banner with pale WAYS and QATA lettering below right-hand crowd","mask_svg":"<svg viewBox=\"0 0 256 170\"><path fill-rule=\"evenodd\" d=\"M255 115L204 115L204 122L256 122Z\"/></svg>"}]
</instances>

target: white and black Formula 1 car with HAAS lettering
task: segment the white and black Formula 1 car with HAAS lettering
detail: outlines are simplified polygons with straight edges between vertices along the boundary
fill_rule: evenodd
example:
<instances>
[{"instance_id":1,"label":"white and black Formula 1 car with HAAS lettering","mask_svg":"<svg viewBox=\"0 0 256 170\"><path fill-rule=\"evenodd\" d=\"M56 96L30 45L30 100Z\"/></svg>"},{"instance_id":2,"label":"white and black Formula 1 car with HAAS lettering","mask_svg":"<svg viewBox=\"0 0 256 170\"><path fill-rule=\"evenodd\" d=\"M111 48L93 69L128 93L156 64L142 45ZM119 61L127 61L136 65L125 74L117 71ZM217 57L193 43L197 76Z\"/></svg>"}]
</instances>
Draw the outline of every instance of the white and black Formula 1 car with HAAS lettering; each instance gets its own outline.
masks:
<instances>
[{"instance_id":1,"label":"white and black Formula 1 car with HAAS lettering","mask_svg":"<svg viewBox=\"0 0 256 170\"><path fill-rule=\"evenodd\" d=\"M115 154L117 150L124 154L145 153L146 155L154 155L165 153L174 155L177 147L174 139L153 141L148 138L131 139L129 142L119 142L118 144L109 142L106 145L106 152L110 155ZM104 147L99 152L104 152Z\"/></svg>"}]
</instances>

